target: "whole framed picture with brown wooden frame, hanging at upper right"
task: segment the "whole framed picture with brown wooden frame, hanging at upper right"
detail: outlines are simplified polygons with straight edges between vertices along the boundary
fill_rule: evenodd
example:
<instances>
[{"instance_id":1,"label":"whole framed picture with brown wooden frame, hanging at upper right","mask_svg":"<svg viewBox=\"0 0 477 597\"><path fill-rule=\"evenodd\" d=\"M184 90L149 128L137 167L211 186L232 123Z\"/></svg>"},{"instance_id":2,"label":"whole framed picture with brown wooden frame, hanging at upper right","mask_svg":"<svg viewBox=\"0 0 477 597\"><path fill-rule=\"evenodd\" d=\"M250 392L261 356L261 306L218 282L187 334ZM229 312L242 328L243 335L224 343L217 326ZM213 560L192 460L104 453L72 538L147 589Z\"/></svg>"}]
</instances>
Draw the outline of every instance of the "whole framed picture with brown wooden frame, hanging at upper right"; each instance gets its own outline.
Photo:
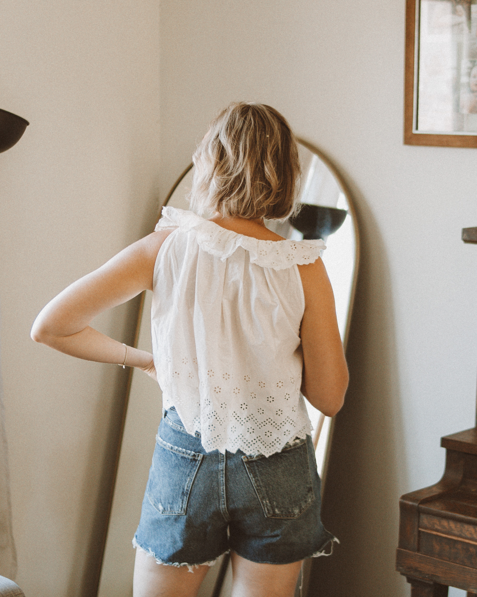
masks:
<instances>
[{"instance_id":1,"label":"whole framed picture with brown wooden frame, hanging at upper right","mask_svg":"<svg viewBox=\"0 0 477 597\"><path fill-rule=\"evenodd\" d=\"M477 147L477 0L407 0L404 143Z\"/></svg>"}]
</instances>

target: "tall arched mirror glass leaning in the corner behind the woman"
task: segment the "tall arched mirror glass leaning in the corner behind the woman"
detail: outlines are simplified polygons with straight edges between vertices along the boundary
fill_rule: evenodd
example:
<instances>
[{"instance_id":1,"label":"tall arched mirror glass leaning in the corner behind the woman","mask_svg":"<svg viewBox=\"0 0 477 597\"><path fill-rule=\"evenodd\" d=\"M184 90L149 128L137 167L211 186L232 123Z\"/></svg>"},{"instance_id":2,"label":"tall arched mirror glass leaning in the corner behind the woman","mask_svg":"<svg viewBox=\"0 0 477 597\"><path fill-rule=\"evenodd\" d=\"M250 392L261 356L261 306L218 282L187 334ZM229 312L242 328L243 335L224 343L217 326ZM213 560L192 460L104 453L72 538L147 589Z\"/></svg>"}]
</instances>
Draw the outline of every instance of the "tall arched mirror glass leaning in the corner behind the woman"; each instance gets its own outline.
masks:
<instances>
[{"instance_id":1,"label":"tall arched mirror glass leaning in the corner behind the woman","mask_svg":"<svg viewBox=\"0 0 477 597\"><path fill-rule=\"evenodd\" d=\"M339 174L326 156L305 141L299 142L299 155L303 173L300 199L305 205L295 220L284 223L270 221L267 225L284 238L323 238L326 242L323 261L332 283L339 330L346 348L358 271L359 245L354 207ZM185 197L191 187L191 177L189 167L172 187L166 199L167 205L188 209ZM138 348L150 352L151 298L152 293L144 293L136 334ZM313 439L323 488L333 420L308 402L306 405L314 428ZM135 552L131 540L141 515L154 438L161 417L159 386L141 372L132 371L98 597L132 597ZM303 596L308 589L310 565L310 561L303 565ZM199 597L230 597L230 590L230 565L228 557L222 556L207 573Z\"/></svg>"}]
</instances>

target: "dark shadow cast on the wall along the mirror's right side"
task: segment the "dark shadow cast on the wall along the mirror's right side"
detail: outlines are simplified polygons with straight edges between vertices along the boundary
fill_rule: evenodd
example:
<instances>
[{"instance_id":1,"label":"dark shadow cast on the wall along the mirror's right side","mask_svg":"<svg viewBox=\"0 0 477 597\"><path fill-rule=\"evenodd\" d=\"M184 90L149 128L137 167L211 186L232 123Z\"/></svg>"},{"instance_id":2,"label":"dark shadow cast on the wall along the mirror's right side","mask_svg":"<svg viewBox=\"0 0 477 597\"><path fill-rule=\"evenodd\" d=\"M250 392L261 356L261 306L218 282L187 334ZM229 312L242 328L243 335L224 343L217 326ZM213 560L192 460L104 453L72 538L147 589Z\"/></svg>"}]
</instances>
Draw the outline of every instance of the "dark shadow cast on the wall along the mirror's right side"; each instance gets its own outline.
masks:
<instances>
[{"instance_id":1,"label":"dark shadow cast on the wall along the mirror's right side","mask_svg":"<svg viewBox=\"0 0 477 597\"><path fill-rule=\"evenodd\" d=\"M337 414L323 496L324 526L339 540L313 562L310 595L404 597L395 572L399 488L405 479L394 308L385 247L357 189L361 264L348 341L350 383Z\"/></svg>"}]
</instances>

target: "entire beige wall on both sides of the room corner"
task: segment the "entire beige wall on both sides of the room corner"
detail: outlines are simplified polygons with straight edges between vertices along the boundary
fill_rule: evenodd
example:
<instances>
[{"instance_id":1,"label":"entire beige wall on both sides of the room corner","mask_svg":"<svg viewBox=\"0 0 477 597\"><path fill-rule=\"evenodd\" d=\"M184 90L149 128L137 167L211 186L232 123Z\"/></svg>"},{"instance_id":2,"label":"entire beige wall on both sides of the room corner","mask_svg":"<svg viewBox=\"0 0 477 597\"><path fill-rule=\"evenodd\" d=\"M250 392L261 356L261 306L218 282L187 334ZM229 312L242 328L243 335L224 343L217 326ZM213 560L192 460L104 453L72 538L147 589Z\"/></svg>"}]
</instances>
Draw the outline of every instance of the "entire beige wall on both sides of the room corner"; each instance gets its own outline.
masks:
<instances>
[{"instance_id":1,"label":"entire beige wall on both sides of the room corner","mask_svg":"<svg viewBox=\"0 0 477 597\"><path fill-rule=\"evenodd\" d=\"M150 229L156 184L163 199L236 99L277 107L324 150L360 219L351 386L324 504L342 544L317 562L315 587L409 594L394 572L399 494L439 478L439 437L475 416L477 249L460 229L477 222L475 150L402 144L404 4L163 0L160 32L157 1L2 5L0 107L32 123L0 156L2 368L27 596L90 594L123 387L119 368L33 344L30 325ZM126 341L133 311L98 327Z\"/></svg>"}]
</instances>

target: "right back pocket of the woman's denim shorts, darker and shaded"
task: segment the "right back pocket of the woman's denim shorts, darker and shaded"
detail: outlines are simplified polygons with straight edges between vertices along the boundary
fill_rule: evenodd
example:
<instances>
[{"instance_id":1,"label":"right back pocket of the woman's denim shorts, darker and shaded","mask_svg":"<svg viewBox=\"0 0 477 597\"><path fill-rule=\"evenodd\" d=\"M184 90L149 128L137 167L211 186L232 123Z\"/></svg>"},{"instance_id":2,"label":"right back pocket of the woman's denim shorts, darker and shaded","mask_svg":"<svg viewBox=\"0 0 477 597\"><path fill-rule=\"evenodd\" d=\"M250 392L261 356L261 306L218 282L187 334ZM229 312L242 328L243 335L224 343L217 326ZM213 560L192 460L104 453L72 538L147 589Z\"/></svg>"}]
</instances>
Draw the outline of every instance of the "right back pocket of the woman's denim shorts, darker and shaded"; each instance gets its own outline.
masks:
<instances>
[{"instance_id":1,"label":"right back pocket of the woman's denim shorts, darker and shaded","mask_svg":"<svg viewBox=\"0 0 477 597\"><path fill-rule=\"evenodd\" d=\"M298 518L315 499L306 439L268 458L242 460L267 518Z\"/></svg>"}]
</instances>

